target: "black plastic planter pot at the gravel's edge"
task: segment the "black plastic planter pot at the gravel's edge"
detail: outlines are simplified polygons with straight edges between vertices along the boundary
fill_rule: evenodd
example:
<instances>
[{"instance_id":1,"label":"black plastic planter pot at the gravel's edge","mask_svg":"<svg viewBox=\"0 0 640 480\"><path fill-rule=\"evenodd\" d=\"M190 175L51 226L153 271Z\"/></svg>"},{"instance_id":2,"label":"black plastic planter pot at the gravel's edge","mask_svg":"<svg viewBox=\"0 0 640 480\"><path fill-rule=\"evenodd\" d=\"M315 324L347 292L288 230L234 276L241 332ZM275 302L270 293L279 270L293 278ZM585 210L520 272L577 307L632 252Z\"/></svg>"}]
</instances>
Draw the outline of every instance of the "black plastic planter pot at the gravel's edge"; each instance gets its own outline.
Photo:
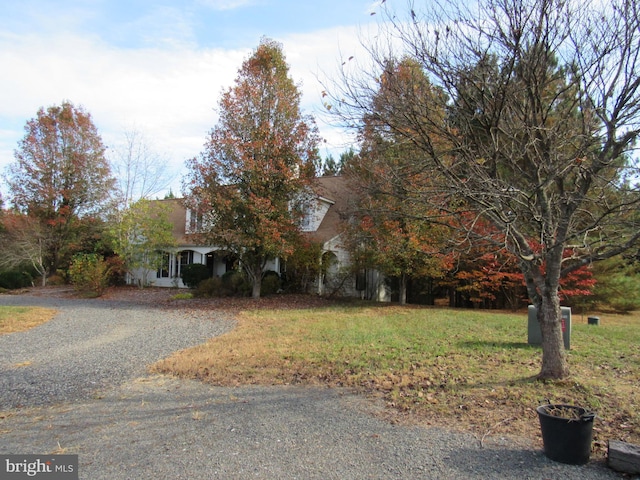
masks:
<instances>
[{"instance_id":1,"label":"black plastic planter pot at the gravel's edge","mask_svg":"<svg viewBox=\"0 0 640 480\"><path fill-rule=\"evenodd\" d=\"M567 416L571 418L549 413L559 411L569 413ZM547 457L570 465L583 465L589 461L595 413L571 405L541 405L537 412Z\"/></svg>"}]
</instances>

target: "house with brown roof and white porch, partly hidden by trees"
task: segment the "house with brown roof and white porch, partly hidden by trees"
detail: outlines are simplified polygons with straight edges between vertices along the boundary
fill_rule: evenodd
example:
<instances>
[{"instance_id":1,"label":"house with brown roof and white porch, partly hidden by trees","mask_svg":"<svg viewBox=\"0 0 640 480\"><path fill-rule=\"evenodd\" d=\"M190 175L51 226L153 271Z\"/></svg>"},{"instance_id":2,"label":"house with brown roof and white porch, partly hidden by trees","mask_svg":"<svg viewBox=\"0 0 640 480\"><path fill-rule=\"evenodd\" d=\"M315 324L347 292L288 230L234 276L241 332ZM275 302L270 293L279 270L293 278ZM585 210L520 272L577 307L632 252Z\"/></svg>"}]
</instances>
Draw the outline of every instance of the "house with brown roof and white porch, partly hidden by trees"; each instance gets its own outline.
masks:
<instances>
[{"instance_id":1,"label":"house with brown roof and white porch, partly hidden by trees","mask_svg":"<svg viewBox=\"0 0 640 480\"><path fill-rule=\"evenodd\" d=\"M313 185L314 195L308 212L301 224L302 232L322 245L321 262L323 273L314 282L313 293L340 294L366 298L384 299L380 295L379 281L372 272L360 276L348 269L350 257L342 240L341 222L348 211L353 190L345 177L320 177ZM163 252L162 266L155 272L148 272L140 278L141 272L134 274L131 283L144 282L158 287L185 287L181 271L185 265L200 263L206 265L212 277L222 276L236 268L236 259L215 245L202 245L196 236L203 218L187 209L181 199L158 200L168 207L169 221L173 225L176 246ZM280 259L271 260L265 270L282 271ZM373 286L373 287L372 287Z\"/></svg>"}]
</instances>

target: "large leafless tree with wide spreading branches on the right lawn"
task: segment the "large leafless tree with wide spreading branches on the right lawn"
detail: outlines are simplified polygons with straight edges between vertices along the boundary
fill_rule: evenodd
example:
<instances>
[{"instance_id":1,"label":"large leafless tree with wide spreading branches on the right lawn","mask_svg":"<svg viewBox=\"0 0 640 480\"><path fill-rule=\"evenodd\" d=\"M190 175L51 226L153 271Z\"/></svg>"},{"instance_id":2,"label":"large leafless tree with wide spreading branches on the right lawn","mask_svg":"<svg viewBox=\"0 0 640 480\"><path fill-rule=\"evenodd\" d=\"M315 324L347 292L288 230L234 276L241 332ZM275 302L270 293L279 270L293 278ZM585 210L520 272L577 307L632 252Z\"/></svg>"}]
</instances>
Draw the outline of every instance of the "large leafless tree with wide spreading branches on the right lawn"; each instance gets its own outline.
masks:
<instances>
[{"instance_id":1,"label":"large leafless tree with wide spreading branches on the right lawn","mask_svg":"<svg viewBox=\"0 0 640 480\"><path fill-rule=\"evenodd\" d=\"M437 193L447 194L447 208L501 232L496 248L516 256L537 307L539 376L567 377L561 278L640 237L637 160L627 155L640 134L638 4L443 0L424 12L410 3L406 15L388 8L388 35L367 43L366 70L347 63L331 111L345 124L361 122L397 50L420 64L445 94L446 117L432 115L438 98L416 97L400 111L376 108L378 121L425 153L424 167L445 180ZM443 196L423 196L432 198Z\"/></svg>"}]
</instances>

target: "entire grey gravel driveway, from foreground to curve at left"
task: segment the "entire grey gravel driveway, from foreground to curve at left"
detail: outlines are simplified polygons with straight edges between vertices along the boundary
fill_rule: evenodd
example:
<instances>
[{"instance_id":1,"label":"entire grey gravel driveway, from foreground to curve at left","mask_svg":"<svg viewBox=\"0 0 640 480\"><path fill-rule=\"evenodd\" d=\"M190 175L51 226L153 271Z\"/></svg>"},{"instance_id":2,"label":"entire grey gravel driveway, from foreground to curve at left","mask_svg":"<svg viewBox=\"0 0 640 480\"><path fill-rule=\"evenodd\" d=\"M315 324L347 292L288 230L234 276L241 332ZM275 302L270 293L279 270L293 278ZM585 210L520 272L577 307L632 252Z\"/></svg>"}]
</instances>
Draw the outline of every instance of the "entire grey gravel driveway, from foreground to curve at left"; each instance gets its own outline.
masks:
<instances>
[{"instance_id":1,"label":"entire grey gravel driveway, from foreground to curve at left","mask_svg":"<svg viewBox=\"0 0 640 480\"><path fill-rule=\"evenodd\" d=\"M59 310L0 337L0 454L79 455L81 479L612 479L527 439L395 425L341 389L212 387L149 363L233 328L215 310L0 295Z\"/></svg>"}]
</instances>

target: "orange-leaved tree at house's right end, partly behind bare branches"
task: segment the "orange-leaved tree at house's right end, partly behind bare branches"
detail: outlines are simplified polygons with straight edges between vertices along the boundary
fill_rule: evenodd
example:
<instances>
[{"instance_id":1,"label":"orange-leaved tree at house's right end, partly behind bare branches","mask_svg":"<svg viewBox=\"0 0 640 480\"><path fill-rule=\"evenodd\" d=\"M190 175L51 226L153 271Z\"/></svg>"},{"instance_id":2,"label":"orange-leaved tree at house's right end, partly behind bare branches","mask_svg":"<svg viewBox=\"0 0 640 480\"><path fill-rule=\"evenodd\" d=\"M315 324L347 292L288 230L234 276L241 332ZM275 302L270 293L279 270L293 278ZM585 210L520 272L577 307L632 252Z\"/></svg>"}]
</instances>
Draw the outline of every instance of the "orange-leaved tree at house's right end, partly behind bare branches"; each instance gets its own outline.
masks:
<instances>
[{"instance_id":1,"label":"orange-leaved tree at house's right end, partly behind bare branches","mask_svg":"<svg viewBox=\"0 0 640 480\"><path fill-rule=\"evenodd\" d=\"M397 88L390 88L395 82L404 84L404 98L395 95ZM406 303L410 278L442 275L447 265L448 232L442 220L430 220L435 214L428 213L429 207L416 195L434 181L432 172L419 160L424 153L384 128L377 110L399 107L415 95L438 94L416 62L408 58L389 62L372 99L372 110L362 122L358 161L344 167L357 190L351 212L354 221L348 229L351 249L355 258L367 259L368 268L398 278L400 304Z\"/></svg>"}]
</instances>

